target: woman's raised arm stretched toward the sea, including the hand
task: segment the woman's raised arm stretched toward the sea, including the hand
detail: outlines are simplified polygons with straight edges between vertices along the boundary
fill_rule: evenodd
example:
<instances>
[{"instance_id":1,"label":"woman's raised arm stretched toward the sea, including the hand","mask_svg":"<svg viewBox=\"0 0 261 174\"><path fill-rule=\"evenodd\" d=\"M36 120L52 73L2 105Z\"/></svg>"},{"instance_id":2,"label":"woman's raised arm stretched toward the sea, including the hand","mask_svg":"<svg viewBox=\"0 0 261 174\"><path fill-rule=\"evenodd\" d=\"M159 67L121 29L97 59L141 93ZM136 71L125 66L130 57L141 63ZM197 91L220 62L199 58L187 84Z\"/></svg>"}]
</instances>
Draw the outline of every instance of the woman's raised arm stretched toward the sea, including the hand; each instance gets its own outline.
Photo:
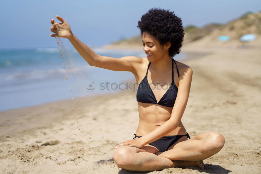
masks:
<instances>
[{"instance_id":1,"label":"woman's raised arm stretched toward the sea, including the hand","mask_svg":"<svg viewBox=\"0 0 261 174\"><path fill-rule=\"evenodd\" d=\"M110 69L113 71L130 71L137 73L138 64L142 59L135 56L126 56L119 59L114 57L100 56L91 48L81 42L71 31L70 25L60 16L56 18L62 23L57 23L54 19L51 20L51 31L55 34L50 34L52 37L68 38L78 53L91 65L100 68Z\"/></svg>"}]
</instances>

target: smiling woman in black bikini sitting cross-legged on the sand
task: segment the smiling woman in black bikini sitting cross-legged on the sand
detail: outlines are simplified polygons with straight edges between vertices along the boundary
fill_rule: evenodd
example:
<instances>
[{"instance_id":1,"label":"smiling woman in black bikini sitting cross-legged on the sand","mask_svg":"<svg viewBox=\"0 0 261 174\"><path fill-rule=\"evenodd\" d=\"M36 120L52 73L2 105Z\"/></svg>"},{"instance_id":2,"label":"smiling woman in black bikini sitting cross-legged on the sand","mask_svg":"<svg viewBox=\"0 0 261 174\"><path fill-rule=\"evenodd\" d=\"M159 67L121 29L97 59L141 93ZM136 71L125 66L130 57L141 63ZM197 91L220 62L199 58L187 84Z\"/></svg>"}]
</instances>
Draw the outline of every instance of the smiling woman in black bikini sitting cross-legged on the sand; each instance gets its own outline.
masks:
<instances>
[{"instance_id":1,"label":"smiling woman in black bikini sitting cross-legged on the sand","mask_svg":"<svg viewBox=\"0 0 261 174\"><path fill-rule=\"evenodd\" d=\"M52 37L68 38L91 66L130 71L139 83L138 129L133 140L116 147L116 164L132 171L188 166L204 169L203 160L219 152L225 139L214 131L187 139L181 118L188 101L192 69L173 59L182 46L181 19L169 10L150 9L138 22L147 57L116 59L94 53L72 33L64 19L56 17L62 23L51 20L51 31L55 33L50 34Z\"/></svg>"}]
</instances>

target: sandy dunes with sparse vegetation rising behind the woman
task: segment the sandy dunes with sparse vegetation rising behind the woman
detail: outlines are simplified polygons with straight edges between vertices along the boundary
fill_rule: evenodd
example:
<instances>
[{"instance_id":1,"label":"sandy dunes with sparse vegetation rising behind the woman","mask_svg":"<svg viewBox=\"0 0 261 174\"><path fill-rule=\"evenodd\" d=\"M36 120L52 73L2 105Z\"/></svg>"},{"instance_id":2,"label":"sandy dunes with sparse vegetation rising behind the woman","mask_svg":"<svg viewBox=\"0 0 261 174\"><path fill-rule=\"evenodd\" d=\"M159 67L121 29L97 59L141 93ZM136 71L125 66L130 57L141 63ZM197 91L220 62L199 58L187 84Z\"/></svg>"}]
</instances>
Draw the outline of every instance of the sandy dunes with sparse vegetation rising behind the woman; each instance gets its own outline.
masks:
<instances>
[{"instance_id":1,"label":"sandy dunes with sparse vegetation rising behind the woman","mask_svg":"<svg viewBox=\"0 0 261 174\"><path fill-rule=\"evenodd\" d=\"M252 13L248 11L241 15L238 19L228 21L226 24L207 24L203 27L188 25L184 27L185 37L184 43L195 42L200 39L209 38L209 41L217 41L217 38L222 35L230 37L230 41L240 42L240 37L244 34L254 34L257 37L261 36L261 11ZM135 36L127 39L118 40L111 45L133 45L140 46L141 36Z\"/></svg>"}]
</instances>

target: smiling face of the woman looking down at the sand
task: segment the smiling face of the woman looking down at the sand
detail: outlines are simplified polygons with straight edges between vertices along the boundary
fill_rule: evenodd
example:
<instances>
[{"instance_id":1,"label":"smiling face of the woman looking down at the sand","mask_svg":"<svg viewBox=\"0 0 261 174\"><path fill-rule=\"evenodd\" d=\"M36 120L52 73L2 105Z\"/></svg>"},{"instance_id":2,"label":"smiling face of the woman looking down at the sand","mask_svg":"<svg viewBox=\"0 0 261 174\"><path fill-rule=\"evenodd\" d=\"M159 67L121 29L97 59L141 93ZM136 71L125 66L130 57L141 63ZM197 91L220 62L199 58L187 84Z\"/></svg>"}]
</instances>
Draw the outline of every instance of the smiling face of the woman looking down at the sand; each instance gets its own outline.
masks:
<instances>
[{"instance_id":1,"label":"smiling face of the woman looking down at the sand","mask_svg":"<svg viewBox=\"0 0 261 174\"><path fill-rule=\"evenodd\" d=\"M156 62L166 55L166 53L168 54L168 50L166 49L167 47L165 48L165 46L163 46L162 48L159 41L146 31L142 34L142 43L143 51L145 51L147 59L150 62Z\"/></svg>"}]
</instances>

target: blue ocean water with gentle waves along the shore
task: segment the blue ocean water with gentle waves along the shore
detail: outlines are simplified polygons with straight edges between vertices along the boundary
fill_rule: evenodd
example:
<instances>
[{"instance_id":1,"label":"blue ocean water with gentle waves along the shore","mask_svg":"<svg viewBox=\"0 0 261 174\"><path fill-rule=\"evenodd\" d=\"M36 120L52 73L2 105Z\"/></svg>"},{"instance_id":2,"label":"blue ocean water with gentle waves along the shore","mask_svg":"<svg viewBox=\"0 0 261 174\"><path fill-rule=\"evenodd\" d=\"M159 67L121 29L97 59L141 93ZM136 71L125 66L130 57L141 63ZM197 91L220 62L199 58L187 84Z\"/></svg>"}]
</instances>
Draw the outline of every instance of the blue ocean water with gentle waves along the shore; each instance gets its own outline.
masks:
<instances>
[{"instance_id":1,"label":"blue ocean water with gentle waves along the shore","mask_svg":"<svg viewBox=\"0 0 261 174\"><path fill-rule=\"evenodd\" d=\"M93 51L115 58L146 56L142 49ZM90 66L75 49L66 48L61 54L58 48L1 49L0 111L116 92L127 88L123 82L134 79L131 72Z\"/></svg>"}]
</instances>

